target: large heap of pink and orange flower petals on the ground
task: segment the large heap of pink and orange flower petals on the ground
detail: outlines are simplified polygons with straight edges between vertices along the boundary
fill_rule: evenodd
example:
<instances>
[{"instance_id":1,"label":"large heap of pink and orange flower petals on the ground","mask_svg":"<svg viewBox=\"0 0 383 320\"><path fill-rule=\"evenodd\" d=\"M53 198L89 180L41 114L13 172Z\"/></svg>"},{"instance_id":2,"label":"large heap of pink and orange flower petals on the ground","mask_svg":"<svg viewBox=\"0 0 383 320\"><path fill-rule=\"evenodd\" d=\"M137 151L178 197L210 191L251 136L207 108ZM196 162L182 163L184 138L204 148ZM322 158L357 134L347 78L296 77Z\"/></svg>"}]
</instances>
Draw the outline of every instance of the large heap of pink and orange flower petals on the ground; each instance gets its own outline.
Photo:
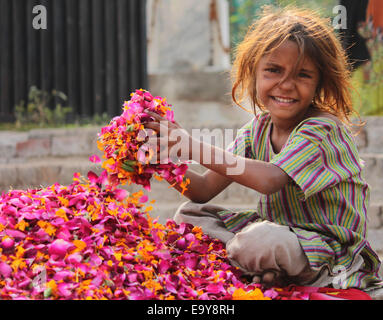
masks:
<instances>
[{"instance_id":1,"label":"large heap of pink and orange flower petals on the ground","mask_svg":"<svg viewBox=\"0 0 383 320\"><path fill-rule=\"evenodd\" d=\"M75 174L69 186L2 194L1 299L271 299L275 294L245 286L224 245L200 228L150 218L143 192L128 197L122 189L103 189L102 175L88 177Z\"/></svg>"}]
</instances>

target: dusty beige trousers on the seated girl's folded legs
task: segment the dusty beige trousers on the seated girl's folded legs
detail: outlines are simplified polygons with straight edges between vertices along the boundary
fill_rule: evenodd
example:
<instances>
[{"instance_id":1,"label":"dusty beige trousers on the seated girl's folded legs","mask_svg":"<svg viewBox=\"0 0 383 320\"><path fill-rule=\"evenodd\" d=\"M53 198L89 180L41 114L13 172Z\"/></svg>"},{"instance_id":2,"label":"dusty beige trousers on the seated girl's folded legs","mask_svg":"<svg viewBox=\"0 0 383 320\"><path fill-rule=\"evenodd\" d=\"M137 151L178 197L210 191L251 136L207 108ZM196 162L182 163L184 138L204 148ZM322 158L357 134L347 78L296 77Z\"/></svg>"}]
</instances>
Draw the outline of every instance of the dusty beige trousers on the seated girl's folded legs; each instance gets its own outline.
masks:
<instances>
[{"instance_id":1,"label":"dusty beige trousers on the seated girl's folded legs","mask_svg":"<svg viewBox=\"0 0 383 320\"><path fill-rule=\"evenodd\" d=\"M245 274L256 276L273 272L283 285L326 286L333 281L326 270L314 271L297 236L289 227L270 221L252 222L238 233L230 232L222 222L220 211L212 204L186 202L177 210L177 223L190 223L226 244L232 265Z\"/></svg>"}]
</instances>

